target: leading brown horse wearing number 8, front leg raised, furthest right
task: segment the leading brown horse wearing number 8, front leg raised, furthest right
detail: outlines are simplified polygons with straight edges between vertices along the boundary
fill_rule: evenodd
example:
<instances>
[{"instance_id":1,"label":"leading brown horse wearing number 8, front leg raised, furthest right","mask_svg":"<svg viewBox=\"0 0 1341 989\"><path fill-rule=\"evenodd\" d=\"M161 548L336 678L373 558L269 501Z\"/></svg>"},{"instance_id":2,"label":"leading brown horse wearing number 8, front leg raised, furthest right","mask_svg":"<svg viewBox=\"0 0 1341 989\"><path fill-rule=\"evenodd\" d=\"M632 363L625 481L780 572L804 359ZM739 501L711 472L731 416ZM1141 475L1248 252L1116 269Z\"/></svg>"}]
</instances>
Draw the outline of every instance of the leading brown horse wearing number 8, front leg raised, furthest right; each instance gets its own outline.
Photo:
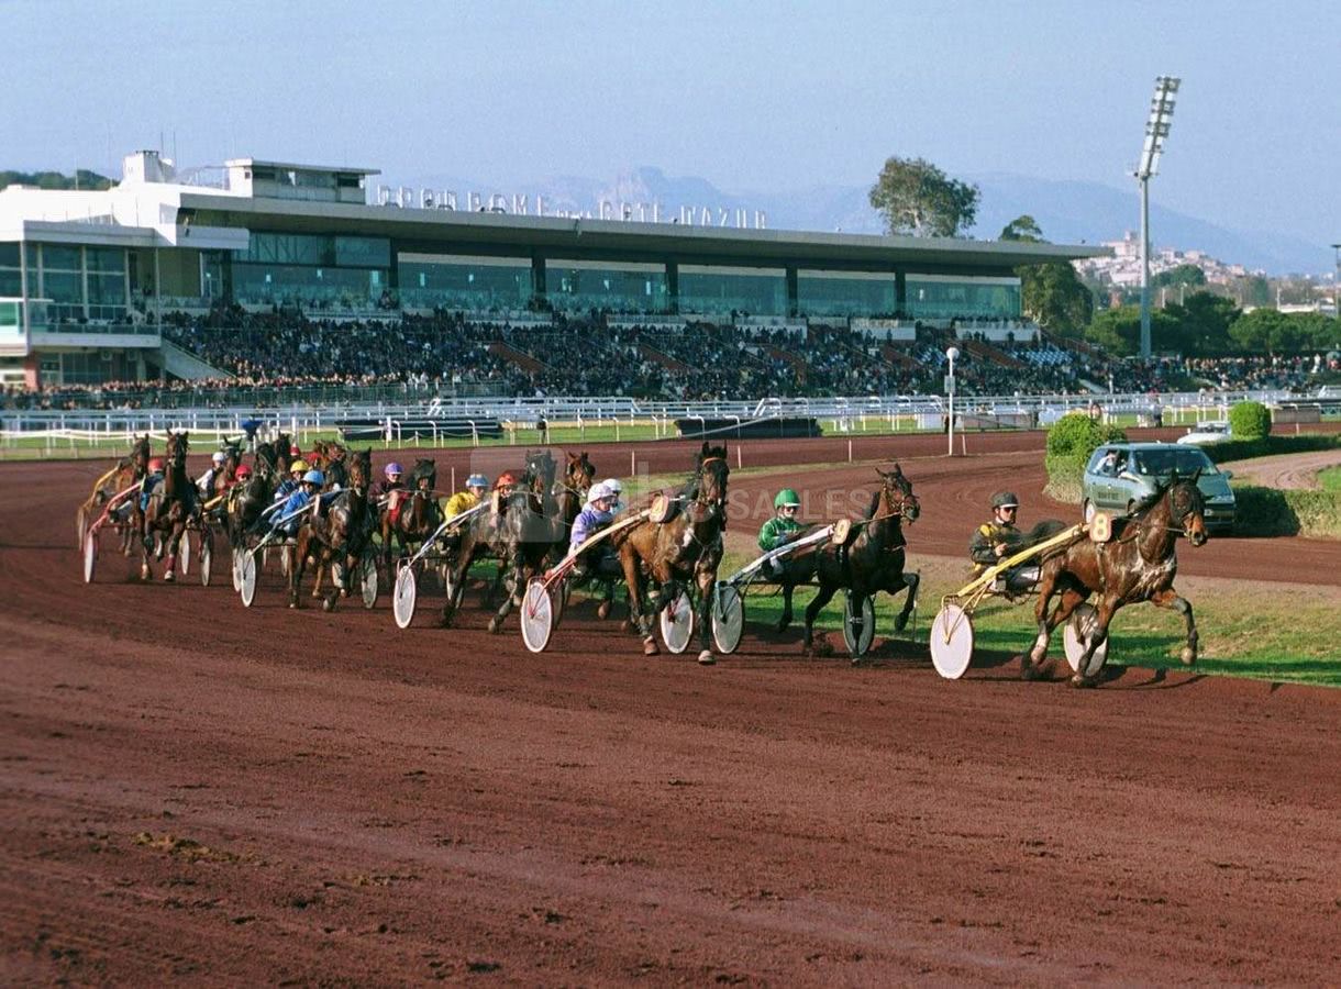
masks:
<instances>
[{"instance_id":1,"label":"leading brown horse wearing number 8, front leg raised, furthest right","mask_svg":"<svg viewBox=\"0 0 1341 989\"><path fill-rule=\"evenodd\" d=\"M1094 650L1108 639L1113 614L1124 604L1148 600L1161 608L1172 608L1183 615L1187 624L1187 645L1181 659L1187 666L1196 663L1196 622L1192 606L1173 590L1177 574L1177 537L1187 536L1192 545L1206 543L1202 492L1196 486L1200 470L1180 478L1175 473L1155 499L1128 519L1113 523L1113 536L1108 543L1084 539L1043 560L1038 583L1038 638L1029 657L1022 659L1026 679L1033 679L1039 665L1047 659L1047 646L1053 630L1070 618L1082 600L1094 594L1097 622L1085 645L1074 686L1094 686L1097 678L1088 675ZM1051 615L1047 614L1053 595L1061 599Z\"/></svg>"}]
</instances>

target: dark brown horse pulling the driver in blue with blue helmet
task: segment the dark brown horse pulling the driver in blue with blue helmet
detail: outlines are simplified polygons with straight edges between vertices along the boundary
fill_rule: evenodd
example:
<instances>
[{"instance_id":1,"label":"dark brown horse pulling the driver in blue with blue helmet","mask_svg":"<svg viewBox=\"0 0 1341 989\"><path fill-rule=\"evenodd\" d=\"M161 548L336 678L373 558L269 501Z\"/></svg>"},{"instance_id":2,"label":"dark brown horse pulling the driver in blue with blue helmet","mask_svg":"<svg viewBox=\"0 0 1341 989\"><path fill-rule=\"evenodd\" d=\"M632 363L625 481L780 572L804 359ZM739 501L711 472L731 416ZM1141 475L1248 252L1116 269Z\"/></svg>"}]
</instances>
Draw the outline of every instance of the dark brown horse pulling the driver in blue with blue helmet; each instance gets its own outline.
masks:
<instances>
[{"instance_id":1,"label":"dark brown horse pulling the driver in blue with blue helmet","mask_svg":"<svg viewBox=\"0 0 1341 989\"><path fill-rule=\"evenodd\" d=\"M322 596L322 575L327 564L331 567L331 592L322 607L333 611L337 594L341 598L349 596L350 575L359 572L363 551L371 543L373 512L367 490L373 477L373 454L370 450L359 450L347 464L349 485L330 499L325 511L314 512L298 529L298 566L288 574L291 607L298 607L303 570L311 560L316 574L314 598Z\"/></svg>"}]
</instances>

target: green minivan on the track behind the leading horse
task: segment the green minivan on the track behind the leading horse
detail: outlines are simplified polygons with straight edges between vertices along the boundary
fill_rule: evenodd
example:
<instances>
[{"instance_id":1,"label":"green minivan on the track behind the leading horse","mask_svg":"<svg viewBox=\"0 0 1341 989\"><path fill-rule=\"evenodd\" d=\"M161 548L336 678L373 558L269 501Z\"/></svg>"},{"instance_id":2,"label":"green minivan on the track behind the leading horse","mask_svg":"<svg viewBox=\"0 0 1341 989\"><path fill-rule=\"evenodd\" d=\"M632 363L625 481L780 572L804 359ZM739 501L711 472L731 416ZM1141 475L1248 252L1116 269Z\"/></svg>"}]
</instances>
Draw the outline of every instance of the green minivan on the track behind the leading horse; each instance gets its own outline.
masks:
<instances>
[{"instance_id":1,"label":"green minivan on the track behind the leading horse","mask_svg":"<svg viewBox=\"0 0 1341 989\"><path fill-rule=\"evenodd\" d=\"M1157 486L1177 470L1189 476L1200 470L1196 486L1206 500L1206 525L1219 532L1234 529L1234 490L1228 470L1220 470L1206 452L1179 444L1105 444L1085 465L1081 499L1085 521L1094 512L1129 515L1155 496Z\"/></svg>"}]
</instances>

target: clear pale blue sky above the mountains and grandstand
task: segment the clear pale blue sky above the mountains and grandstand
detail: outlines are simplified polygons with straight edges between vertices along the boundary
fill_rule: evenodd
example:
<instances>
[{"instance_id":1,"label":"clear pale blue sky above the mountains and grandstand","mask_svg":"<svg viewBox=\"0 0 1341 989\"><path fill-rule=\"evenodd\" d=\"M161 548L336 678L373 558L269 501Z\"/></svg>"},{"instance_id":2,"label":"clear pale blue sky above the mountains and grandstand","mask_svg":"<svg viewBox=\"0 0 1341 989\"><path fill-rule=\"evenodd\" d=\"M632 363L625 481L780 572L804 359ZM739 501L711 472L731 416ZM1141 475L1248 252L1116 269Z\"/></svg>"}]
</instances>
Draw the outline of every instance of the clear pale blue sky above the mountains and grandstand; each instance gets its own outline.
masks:
<instances>
[{"instance_id":1,"label":"clear pale blue sky above the mountains and grandstand","mask_svg":"<svg viewBox=\"0 0 1341 989\"><path fill-rule=\"evenodd\" d=\"M951 174L1128 188L1341 241L1341 3L0 0L0 168L252 155L511 186L637 165L730 192ZM115 166L119 174L119 165Z\"/></svg>"}]
</instances>

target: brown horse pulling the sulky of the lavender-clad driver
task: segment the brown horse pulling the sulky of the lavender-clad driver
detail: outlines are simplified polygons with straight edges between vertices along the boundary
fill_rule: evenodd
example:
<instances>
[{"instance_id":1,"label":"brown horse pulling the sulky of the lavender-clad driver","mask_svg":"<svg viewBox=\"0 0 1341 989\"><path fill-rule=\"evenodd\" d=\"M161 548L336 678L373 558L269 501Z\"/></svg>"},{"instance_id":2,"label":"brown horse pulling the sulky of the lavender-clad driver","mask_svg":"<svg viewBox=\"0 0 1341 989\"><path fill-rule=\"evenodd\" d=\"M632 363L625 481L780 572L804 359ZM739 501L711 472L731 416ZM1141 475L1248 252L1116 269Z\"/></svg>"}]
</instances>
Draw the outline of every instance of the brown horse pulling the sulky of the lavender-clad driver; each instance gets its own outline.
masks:
<instances>
[{"instance_id":1,"label":"brown horse pulling the sulky of the lavender-clad driver","mask_svg":"<svg viewBox=\"0 0 1341 989\"><path fill-rule=\"evenodd\" d=\"M727 528L727 448L703 444L695 472L676 497L676 515L664 523L650 519L630 525L613 537L629 588L629 615L642 635L642 654L656 655L652 616L679 596L681 582L697 587L695 620L699 624L699 662L712 655L709 612L721 563L721 533ZM644 610L644 572L650 584L649 610Z\"/></svg>"}]
</instances>

